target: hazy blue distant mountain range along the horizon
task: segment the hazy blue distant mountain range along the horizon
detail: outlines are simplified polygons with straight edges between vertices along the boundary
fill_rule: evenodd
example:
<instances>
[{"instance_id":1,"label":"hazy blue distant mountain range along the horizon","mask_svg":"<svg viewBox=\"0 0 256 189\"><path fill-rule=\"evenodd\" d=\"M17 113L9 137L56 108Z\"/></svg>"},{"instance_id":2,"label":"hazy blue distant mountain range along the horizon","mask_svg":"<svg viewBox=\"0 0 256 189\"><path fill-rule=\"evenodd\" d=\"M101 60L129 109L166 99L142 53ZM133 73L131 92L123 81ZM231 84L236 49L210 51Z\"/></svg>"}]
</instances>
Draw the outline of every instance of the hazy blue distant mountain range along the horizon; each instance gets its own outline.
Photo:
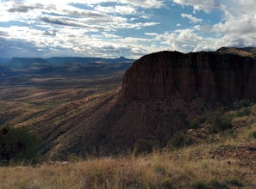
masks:
<instances>
[{"instance_id":1,"label":"hazy blue distant mountain range along the horizon","mask_svg":"<svg viewBox=\"0 0 256 189\"><path fill-rule=\"evenodd\" d=\"M134 62L128 58L12 58L2 65L19 76L79 76L109 74L127 70Z\"/></svg>"}]
</instances>

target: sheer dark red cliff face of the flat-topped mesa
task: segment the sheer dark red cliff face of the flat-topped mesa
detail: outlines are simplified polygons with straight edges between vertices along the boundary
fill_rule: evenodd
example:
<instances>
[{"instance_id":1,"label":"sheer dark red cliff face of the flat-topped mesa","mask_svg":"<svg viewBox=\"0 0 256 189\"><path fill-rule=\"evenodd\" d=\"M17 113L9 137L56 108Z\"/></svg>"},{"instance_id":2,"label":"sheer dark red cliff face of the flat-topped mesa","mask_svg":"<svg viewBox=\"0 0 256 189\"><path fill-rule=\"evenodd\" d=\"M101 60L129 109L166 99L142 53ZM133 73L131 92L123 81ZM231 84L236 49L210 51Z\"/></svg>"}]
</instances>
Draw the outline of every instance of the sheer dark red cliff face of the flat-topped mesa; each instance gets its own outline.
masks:
<instances>
[{"instance_id":1,"label":"sheer dark red cliff face of the flat-topped mesa","mask_svg":"<svg viewBox=\"0 0 256 189\"><path fill-rule=\"evenodd\" d=\"M206 101L256 101L255 59L221 52L156 52L126 71L122 95L128 100L201 97Z\"/></svg>"}]
</instances>

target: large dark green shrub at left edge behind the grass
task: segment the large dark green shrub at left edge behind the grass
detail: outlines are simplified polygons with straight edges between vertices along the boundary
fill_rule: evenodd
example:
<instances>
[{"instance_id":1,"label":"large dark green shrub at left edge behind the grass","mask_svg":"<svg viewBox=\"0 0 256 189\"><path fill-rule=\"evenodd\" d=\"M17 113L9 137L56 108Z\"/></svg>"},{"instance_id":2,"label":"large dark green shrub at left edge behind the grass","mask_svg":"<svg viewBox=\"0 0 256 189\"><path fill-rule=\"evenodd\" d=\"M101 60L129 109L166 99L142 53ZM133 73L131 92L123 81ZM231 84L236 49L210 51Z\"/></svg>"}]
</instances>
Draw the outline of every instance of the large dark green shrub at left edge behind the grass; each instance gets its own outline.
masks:
<instances>
[{"instance_id":1,"label":"large dark green shrub at left edge behind the grass","mask_svg":"<svg viewBox=\"0 0 256 189\"><path fill-rule=\"evenodd\" d=\"M36 162L39 158L35 152L38 142L39 137L27 128L3 126L0 128L0 160L4 163Z\"/></svg>"}]
</instances>

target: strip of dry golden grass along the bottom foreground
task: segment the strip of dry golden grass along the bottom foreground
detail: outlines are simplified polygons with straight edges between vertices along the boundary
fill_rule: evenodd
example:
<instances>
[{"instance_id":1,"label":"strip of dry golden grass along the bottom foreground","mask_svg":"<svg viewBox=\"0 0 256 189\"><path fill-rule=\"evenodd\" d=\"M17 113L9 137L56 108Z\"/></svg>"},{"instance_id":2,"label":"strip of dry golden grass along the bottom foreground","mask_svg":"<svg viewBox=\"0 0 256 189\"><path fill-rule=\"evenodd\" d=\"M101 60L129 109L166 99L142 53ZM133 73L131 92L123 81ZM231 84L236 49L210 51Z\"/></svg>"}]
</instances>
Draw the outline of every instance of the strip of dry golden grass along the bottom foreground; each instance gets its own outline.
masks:
<instances>
[{"instance_id":1,"label":"strip of dry golden grass along the bottom foreground","mask_svg":"<svg viewBox=\"0 0 256 189\"><path fill-rule=\"evenodd\" d=\"M236 180L245 188L256 186L253 168L240 167L235 159L211 159L209 148L200 145L172 153L105 157L35 168L3 167L0 188L193 188L197 180Z\"/></svg>"}]
</instances>

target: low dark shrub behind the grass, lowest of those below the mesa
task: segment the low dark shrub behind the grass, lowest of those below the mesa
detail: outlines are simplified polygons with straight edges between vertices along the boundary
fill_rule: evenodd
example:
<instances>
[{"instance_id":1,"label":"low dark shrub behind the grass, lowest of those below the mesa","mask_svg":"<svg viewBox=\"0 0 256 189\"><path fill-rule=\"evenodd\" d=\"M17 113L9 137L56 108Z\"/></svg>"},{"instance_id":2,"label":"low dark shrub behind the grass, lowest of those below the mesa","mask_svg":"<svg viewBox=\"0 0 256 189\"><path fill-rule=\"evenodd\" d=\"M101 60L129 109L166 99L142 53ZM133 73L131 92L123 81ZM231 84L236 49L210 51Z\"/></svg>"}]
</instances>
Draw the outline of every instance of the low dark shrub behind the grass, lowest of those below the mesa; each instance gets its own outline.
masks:
<instances>
[{"instance_id":1,"label":"low dark shrub behind the grass, lowest of those below the mesa","mask_svg":"<svg viewBox=\"0 0 256 189\"><path fill-rule=\"evenodd\" d=\"M159 149L159 142L151 139L140 138L134 143L134 155L149 154Z\"/></svg>"}]
</instances>

